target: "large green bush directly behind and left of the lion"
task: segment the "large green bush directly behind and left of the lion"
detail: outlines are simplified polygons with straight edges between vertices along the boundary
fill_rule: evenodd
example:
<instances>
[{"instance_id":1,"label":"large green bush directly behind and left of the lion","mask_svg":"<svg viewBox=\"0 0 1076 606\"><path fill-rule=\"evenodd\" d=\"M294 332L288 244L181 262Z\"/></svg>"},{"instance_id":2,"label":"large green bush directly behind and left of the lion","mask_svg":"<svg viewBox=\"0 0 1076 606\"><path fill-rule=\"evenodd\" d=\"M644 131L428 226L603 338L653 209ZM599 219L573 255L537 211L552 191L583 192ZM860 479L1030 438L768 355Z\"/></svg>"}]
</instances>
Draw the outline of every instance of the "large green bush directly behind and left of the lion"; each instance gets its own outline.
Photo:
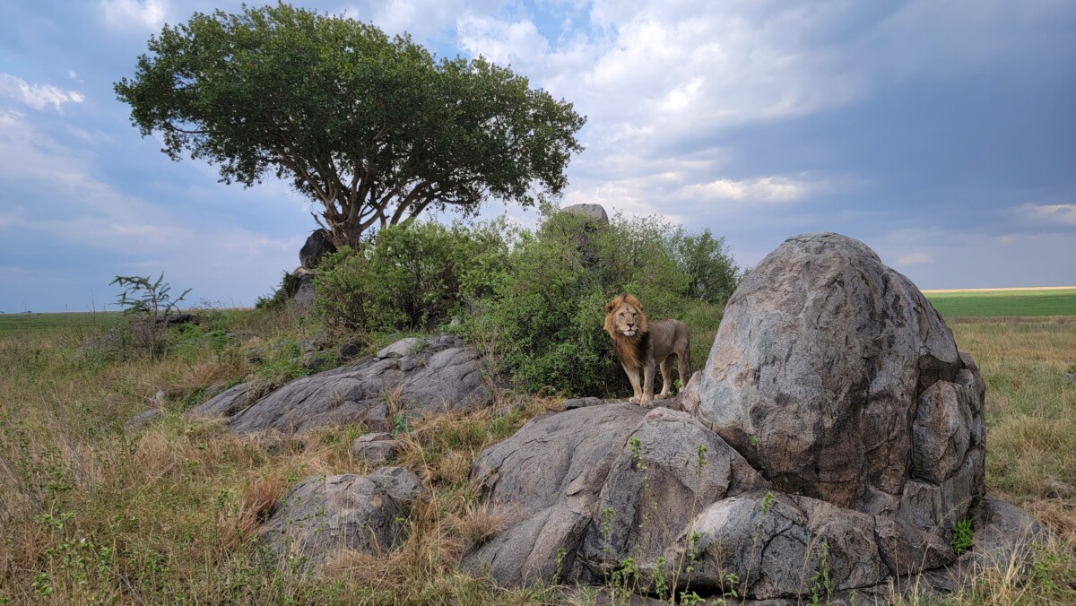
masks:
<instances>
[{"instance_id":1,"label":"large green bush directly behind and left of the lion","mask_svg":"<svg viewBox=\"0 0 1076 606\"><path fill-rule=\"evenodd\" d=\"M536 231L519 235L467 329L522 389L623 394L628 383L603 329L605 304L629 292L652 318L690 312L716 322L727 296L718 285L738 274L723 246L709 231L686 236L656 217L618 215L604 226L550 214ZM699 364L693 356L693 367Z\"/></svg>"}]
</instances>

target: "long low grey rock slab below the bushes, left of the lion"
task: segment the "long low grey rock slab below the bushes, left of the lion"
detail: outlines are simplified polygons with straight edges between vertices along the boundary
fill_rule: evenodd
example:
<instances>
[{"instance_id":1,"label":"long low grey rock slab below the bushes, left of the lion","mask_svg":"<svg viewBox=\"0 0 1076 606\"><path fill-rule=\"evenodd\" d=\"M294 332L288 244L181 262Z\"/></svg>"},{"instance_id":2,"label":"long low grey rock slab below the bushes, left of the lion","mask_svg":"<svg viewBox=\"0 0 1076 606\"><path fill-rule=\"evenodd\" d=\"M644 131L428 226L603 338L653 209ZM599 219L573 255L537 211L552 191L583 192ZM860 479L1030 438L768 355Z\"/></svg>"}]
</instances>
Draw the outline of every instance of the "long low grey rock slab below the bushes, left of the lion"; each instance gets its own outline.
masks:
<instances>
[{"instance_id":1,"label":"long low grey rock slab below the bushes, left of the lion","mask_svg":"<svg viewBox=\"0 0 1076 606\"><path fill-rule=\"evenodd\" d=\"M374 356L297 379L256 401L250 401L249 384L236 385L193 409L192 415L224 418L239 434L268 429L293 434L359 421L384 432L400 412L413 419L491 405L493 394L482 372L482 360L473 348L442 336L415 353Z\"/></svg>"}]
</instances>

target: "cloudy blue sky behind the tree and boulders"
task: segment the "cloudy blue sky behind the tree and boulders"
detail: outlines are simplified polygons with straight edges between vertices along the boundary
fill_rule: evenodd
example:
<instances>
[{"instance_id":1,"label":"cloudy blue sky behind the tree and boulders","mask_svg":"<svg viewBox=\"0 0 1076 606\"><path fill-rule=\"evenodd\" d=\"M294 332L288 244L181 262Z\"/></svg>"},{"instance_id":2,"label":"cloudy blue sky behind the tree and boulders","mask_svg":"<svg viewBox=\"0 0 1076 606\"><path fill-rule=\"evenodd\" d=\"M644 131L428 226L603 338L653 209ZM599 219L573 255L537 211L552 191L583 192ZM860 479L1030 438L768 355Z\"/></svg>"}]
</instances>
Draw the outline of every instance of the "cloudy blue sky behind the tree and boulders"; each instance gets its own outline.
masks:
<instances>
[{"instance_id":1,"label":"cloudy blue sky behind the tree and boulders","mask_svg":"<svg viewBox=\"0 0 1076 606\"><path fill-rule=\"evenodd\" d=\"M1076 285L1072 0L294 4L572 102L562 206L709 228L742 267L837 231L923 290ZM115 309L114 277L161 272L189 304L250 306L298 266L316 207L171 161L112 89L151 34L215 9L241 10L0 0L0 311Z\"/></svg>"}]
</instances>

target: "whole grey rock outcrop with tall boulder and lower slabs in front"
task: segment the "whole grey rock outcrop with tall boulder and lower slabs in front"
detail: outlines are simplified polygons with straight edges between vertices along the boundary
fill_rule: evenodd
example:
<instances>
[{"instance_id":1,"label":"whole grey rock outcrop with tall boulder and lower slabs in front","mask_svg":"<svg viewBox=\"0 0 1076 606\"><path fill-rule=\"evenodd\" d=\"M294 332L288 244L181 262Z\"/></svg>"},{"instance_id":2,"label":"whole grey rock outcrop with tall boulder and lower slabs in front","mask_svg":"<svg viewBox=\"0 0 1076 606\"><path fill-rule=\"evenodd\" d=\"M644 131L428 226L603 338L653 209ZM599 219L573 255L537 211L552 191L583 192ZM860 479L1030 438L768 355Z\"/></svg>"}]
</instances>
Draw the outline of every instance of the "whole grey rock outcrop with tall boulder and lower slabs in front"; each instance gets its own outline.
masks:
<instances>
[{"instance_id":1,"label":"whole grey rock outcrop with tall boulder and lower slabs in front","mask_svg":"<svg viewBox=\"0 0 1076 606\"><path fill-rule=\"evenodd\" d=\"M508 523L464 566L504 586L634 570L643 591L792 602L823 574L834 594L945 590L963 582L958 520L990 549L1002 522L1027 531L1010 551L1038 532L985 493L985 387L866 245L791 238L733 295L683 411L580 401L479 456L471 482Z\"/></svg>"}]
</instances>

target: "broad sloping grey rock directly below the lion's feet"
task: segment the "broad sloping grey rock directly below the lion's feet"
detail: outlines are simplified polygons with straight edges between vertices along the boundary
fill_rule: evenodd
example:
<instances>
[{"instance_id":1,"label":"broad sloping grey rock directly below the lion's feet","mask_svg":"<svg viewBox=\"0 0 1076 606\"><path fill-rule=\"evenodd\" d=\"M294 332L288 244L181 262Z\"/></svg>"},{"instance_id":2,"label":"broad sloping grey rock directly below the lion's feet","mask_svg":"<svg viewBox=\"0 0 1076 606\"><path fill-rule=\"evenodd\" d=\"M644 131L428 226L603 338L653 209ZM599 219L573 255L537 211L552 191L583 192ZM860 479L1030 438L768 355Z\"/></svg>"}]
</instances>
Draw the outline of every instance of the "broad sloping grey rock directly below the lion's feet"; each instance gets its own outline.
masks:
<instances>
[{"instance_id":1,"label":"broad sloping grey rock directly below the lion's feet","mask_svg":"<svg viewBox=\"0 0 1076 606\"><path fill-rule=\"evenodd\" d=\"M694 511L766 484L689 414L631 404L532 420L482 452L471 482L511 523L463 566L507 587L557 572L593 582L628 554L656 560Z\"/></svg>"}]
</instances>

